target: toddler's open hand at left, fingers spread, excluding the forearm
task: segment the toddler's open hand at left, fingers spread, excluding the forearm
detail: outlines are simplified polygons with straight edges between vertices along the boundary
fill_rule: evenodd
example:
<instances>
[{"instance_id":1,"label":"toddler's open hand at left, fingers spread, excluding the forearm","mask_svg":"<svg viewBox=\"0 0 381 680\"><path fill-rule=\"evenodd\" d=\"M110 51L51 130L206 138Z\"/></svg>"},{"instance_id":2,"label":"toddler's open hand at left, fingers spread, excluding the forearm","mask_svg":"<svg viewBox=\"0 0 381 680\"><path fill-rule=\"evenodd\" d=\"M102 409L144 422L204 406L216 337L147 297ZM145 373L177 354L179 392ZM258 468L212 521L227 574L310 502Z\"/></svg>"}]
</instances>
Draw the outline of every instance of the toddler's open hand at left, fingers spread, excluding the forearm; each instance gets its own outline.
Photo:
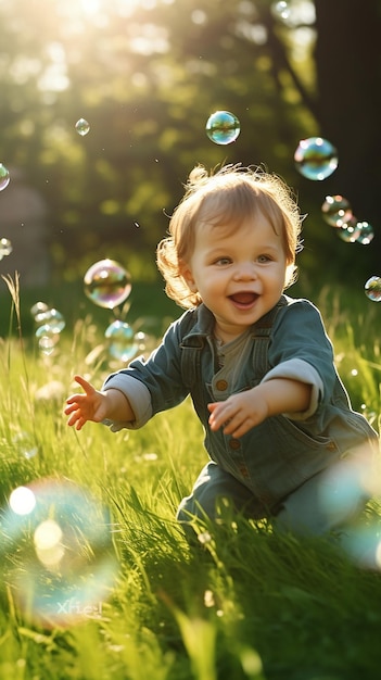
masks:
<instances>
[{"instance_id":1,"label":"toddler's open hand at left, fingers spread, excluding the forearm","mask_svg":"<svg viewBox=\"0 0 381 680\"><path fill-rule=\"evenodd\" d=\"M67 425L80 430L88 420L100 423L106 417L106 396L81 376L75 376L74 379L85 390L85 394L72 394L66 400L64 413L69 416Z\"/></svg>"}]
</instances>

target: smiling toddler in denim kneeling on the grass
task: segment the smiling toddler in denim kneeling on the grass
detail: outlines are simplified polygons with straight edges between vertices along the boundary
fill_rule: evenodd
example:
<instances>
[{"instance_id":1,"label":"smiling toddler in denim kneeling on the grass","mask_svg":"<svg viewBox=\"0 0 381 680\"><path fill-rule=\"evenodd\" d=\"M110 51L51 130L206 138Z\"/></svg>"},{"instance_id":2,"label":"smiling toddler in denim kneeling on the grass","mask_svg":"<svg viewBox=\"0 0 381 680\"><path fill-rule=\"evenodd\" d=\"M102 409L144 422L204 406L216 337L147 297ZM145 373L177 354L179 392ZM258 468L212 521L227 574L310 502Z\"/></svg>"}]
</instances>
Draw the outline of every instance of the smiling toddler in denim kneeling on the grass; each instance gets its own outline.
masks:
<instances>
[{"instance_id":1,"label":"smiling toddler in denim kneeling on the grass","mask_svg":"<svg viewBox=\"0 0 381 680\"><path fill-rule=\"evenodd\" d=\"M302 217L277 176L195 167L157 247L166 292L186 312L148 360L67 399L68 425L137 429L191 395L208 462L177 517L218 518L228 500L282 530L322 534L373 493L378 435L352 410L319 311L284 290Z\"/></svg>"}]
</instances>

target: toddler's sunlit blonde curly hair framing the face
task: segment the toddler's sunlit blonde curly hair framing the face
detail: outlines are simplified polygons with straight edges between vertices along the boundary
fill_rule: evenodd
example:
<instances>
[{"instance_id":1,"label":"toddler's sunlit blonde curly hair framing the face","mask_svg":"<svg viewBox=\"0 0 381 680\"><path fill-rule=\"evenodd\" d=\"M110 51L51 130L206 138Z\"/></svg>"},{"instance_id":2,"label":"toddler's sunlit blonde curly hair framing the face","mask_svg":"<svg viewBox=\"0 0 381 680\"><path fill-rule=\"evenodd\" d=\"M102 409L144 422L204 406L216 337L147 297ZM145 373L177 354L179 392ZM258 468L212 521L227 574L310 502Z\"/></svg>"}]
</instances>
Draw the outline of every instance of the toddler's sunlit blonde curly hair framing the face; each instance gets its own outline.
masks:
<instances>
[{"instance_id":1,"label":"toddler's sunlit blonde curly hair framing the face","mask_svg":"<svg viewBox=\"0 0 381 680\"><path fill-rule=\"evenodd\" d=\"M303 217L290 187L280 177L240 164L225 165L211 174L203 165L196 165L185 188L185 196L169 222L169 237L164 238L156 250L156 263L168 298L185 308L202 302L181 275L181 265L193 254L200 223L237 228L245 217L258 213L281 235L287 262L284 288L295 280L295 255L302 249Z\"/></svg>"}]
</instances>

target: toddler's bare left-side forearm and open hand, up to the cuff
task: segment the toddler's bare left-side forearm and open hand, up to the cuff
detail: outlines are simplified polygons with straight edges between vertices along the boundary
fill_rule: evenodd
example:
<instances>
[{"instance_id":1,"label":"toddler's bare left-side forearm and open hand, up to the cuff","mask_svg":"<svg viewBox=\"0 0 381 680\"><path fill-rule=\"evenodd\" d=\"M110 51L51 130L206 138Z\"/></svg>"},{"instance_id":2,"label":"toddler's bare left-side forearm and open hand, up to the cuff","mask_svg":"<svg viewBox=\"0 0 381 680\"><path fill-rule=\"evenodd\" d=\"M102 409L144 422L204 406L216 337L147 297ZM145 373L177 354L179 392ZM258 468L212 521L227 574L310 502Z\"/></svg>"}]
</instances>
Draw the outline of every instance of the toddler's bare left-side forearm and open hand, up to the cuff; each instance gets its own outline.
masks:
<instances>
[{"instance_id":1,"label":"toddler's bare left-side forearm and open hand, up to the cuff","mask_svg":"<svg viewBox=\"0 0 381 680\"><path fill-rule=\"evenodd\" d=\"M80 430L88 420L93 423L101 423L104 419L135 420L131 405L119 390L98 391L81 376L75 376L74 379L85 390L85 394L72 394L66 400L64 413L69 416L67 425Z\"/></svg>"}]
</instances>

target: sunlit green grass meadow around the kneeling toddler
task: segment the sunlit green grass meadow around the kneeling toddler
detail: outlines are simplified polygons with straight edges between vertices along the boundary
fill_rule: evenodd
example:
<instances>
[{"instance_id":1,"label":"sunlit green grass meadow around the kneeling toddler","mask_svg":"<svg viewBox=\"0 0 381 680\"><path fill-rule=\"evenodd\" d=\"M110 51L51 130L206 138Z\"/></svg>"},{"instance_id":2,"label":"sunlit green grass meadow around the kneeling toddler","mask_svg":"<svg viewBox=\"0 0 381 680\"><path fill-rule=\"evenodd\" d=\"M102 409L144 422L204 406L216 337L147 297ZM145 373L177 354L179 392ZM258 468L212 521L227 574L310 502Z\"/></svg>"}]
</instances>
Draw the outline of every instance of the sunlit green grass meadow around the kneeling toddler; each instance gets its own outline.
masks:
<instances>
[{"instance_id":1,"label":"sunlit green grass meadow around the kneeling toddler","mask_svg":"<svg viewBox=\"0 0 381 680\"><path fill-rule=\"evenodd\" d=\"M16 332L0 339L1 680L378 678L377 559L371 567L359 564L326 539L278 534L269 522L231 516L228 508L223 525L200 522L190 545L175 513L205 463L191 403L139 431L113 433L96 424L73 431L63 416L73 375L100 386L120 367L107 357L97 310L75 318L72 298L73 324L54 351L42 354L34 335L23 331L23 291L11 286L7 294ZM378 428L379 305L363 291L348 303L345 291L332 289L318 291L315 301L353 405ZM77 505L62 509L72 524L79 517L77 538L86 546L80 555L69 544L62 547L66 581L75 588L65 591L64 606L60 559L38 559L30 518L16 517L15 527L9 521L12 491L36 482L50 486L58 499L60 484L64 491L73 484L106 508L101 519L89 515L88 525ZM380 533L380 513L379 500L369 502L364 553L367 530ZM103 542L94 538L98 526ZM107 578L104 565L112 565ZM71 592L88 592L89 584L96 600L78 605ZM55 603L54 617L38 613L41 588L42 609Z\"/></svg>"}]
</instances>

